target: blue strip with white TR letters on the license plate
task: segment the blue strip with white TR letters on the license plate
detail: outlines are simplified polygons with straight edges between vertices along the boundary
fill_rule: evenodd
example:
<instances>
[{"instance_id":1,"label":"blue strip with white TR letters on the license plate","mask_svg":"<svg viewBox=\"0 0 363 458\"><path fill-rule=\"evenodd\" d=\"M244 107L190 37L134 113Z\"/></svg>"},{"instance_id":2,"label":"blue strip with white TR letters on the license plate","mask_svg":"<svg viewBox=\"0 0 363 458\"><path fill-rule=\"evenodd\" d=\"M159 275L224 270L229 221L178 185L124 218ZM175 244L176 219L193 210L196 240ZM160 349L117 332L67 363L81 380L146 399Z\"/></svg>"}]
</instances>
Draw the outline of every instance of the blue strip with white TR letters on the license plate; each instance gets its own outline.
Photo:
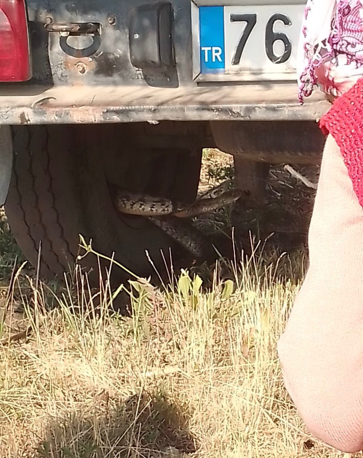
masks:
<instances>
[{"instance_id":1,"label":"blue strip with white TR letters on the license plate","mask_svg":"<svg viewBox=\"0 0 363 458\"><path fill-rule=\"evenodd\" d=\"M201 73L223 72L225 69L223 6L200 6L199 27Z\"/></svg>"}]
</instances>

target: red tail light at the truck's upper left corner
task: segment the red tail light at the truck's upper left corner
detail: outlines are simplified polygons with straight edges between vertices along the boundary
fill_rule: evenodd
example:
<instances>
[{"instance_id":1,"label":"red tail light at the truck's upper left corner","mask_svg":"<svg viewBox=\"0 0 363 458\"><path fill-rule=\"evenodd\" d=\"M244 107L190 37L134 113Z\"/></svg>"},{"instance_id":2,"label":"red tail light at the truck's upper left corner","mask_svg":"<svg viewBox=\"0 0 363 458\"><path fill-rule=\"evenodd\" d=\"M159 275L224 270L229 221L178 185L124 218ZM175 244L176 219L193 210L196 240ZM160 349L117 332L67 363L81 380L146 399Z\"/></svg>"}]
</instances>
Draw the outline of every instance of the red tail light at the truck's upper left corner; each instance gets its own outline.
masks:
<instances>
[{"instance_id":1,"label":"red tail light at the truck's upper left corner","mask_svg":"<svg viewBox=\"0 0 363 458\"><path fill-rule=\"evenodd\" d=\"M0 0L0 81L32 76L25 0Z\"/></svg>"}]
</instances>

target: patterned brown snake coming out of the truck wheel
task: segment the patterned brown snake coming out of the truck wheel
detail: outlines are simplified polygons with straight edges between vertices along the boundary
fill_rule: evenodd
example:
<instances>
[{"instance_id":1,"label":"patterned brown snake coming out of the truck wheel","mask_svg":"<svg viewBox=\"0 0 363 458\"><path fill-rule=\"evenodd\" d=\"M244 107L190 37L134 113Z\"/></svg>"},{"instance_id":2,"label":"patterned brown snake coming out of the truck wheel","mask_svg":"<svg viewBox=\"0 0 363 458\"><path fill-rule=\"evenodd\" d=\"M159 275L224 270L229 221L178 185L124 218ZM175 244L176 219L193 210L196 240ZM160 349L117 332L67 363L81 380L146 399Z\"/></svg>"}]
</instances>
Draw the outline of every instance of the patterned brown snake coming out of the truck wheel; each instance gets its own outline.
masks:
<instances>
[{"instance_id":1,"label":"patterned brown snake coming out of the truck wheel","mask_svg":"<svg viewBox=\"0 0 363 458\"><path fill-rule=\"evenodd\" d=\"M242 192L234 189L217 197L199 198L188 204L165 197L149 196L143 193L134 194L119 189L116 193L115 206L119 213L147 218L189 251L192 256L206 259L213 253L212 245L208 237L186 221L186 218L210 213L236 202L241 196Z\"/></svg>"}]
</instances>

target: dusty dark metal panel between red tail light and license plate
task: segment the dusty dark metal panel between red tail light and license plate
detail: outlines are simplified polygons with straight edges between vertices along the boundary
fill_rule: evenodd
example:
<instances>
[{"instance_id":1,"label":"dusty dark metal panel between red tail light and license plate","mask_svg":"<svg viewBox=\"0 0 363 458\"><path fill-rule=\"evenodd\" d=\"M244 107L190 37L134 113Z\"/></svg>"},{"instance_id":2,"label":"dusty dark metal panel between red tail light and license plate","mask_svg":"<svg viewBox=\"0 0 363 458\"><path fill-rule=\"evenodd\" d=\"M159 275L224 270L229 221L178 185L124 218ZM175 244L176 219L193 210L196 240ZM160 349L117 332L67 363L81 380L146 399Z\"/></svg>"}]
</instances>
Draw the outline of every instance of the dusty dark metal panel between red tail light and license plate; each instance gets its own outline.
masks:
<instances>
[{"instance_id":1,"label":"dusty dark metal panel between red tail light and license plate","mask_svg":"<svg viewBox=\"0 0 363 458\"><path fill-rule=\"evenodd\" d=\"M27 0L31 26L34 77L29 83L57 85L133 85L135 87L178 87L191 85L191 21L190 0L172 0L173 51L178 62L176 73L165 69L144 72L134 67L129 52L129 17L132 9L149 0ZM151 3L151 2L150 2ZM101 25L100 43L92 55L93 68L80 72L77 65L67 65L69 55L62 49L65 37L53 24L97 23ZM48 30L47 30L48 28ZM65 28L63 27L65 30ZM92 44L92 35L70 36L67 43L75 49ZM81 62L82 62L81 58ZM77 64L75 62L75 64Z\"/></svg>"}]
</instances>

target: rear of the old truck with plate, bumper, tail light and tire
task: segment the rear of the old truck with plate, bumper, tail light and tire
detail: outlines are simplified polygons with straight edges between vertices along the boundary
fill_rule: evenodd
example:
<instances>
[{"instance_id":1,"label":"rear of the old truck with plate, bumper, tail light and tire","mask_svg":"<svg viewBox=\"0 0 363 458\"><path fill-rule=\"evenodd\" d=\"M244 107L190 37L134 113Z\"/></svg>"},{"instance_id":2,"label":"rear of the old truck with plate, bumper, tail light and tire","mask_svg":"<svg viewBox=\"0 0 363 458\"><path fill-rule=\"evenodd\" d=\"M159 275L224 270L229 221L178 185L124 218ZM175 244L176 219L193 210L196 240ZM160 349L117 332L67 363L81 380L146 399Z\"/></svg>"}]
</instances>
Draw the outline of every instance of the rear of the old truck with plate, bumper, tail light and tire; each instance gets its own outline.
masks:
<instances>
[{"instance_id":1,"label":"rear of the old truck with plate, bumper, tail light and tire","mask_svg":"<svg viewBox=\"0 0 363 458\"><path fill-rule=\"evenodd\" d=\"M147 218L120 215L119 189L194 202L204 147L234 155L245 200L263 192L268 164L318 162L328 104L320 93L298 104L303 8L0 0L0 203L7 195L29 261L41 241L43 275L61 275L83 234L147 275L145 251L160 259L173 243Z\"/></svg>"}]
</instances>

